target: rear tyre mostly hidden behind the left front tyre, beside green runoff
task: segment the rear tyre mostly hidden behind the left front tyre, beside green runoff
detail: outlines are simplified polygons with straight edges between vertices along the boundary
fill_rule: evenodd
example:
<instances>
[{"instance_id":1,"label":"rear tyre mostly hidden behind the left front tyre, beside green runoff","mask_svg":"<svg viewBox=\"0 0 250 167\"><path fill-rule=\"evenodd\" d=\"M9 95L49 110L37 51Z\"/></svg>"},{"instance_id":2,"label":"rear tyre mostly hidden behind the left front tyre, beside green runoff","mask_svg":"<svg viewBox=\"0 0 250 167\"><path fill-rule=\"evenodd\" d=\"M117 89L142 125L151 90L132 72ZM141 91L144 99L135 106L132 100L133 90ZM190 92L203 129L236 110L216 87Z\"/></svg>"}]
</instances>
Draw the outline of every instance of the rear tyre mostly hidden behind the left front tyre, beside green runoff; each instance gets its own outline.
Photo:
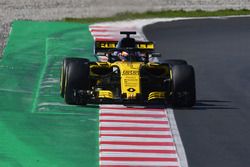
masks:
<instances>
[{"instance_id":1,"label":"rear tyre mostly hidden behind the left front tyre, beside green runoff","mask_svg":"<svg viewBox=\"0 0 250 167\"><path fill-rule=\"evenodd\" d=\"M77 58L77 57L67 57L63 60L62 67L61 67L61 75L60 75L60 95L61 95L61 97L64 97L66 68L67 68L69 63L79 61L79 60L88 62L88 59Z\"/></svg>"}]
</instances>

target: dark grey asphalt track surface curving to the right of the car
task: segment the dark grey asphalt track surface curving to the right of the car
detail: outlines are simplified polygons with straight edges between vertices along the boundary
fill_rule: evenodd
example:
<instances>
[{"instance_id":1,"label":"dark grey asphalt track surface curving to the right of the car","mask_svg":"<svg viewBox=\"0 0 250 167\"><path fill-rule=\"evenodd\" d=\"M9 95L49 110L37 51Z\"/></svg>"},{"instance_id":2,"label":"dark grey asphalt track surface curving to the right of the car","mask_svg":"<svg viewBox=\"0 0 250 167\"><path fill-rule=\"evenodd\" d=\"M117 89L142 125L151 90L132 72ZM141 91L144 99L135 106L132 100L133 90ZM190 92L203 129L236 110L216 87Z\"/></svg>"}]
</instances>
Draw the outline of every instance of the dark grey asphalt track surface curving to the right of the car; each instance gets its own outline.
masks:
<instances>
[{"instance_id":1,"label":"dark grey asphalt track surface curving to the right of the car","mask_svg":"<svg viewBox=\"0 0 250 167\"><path fill-rule=\"evenodd\" d=\"M144 33L162 59L195 68L197 103L174 112L189 166L249 166L250 18L164 22Z\"/></svg>"}]
</instances>

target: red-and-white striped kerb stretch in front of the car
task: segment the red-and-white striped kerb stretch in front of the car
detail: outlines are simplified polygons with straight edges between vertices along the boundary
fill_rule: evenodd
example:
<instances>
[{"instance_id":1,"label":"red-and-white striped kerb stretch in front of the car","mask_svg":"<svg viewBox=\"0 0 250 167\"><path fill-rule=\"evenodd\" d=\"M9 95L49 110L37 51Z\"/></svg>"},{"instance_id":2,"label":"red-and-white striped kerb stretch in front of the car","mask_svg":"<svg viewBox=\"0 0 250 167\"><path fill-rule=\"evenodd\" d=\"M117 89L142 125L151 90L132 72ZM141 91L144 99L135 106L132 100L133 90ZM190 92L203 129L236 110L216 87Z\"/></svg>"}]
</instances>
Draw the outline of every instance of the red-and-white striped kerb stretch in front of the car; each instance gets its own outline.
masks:
<instances>
[{"instance_id":1,"label":"red-and-white striped kerb stretch in front of the car","mask_svg":"<svg viewBox=\"0 0 250 167\"><path fill-rule=\"evenodd\" d=\"M165 109L103 105L99 119L101 167L180 166Z\"/></svg>"}]
</instances>

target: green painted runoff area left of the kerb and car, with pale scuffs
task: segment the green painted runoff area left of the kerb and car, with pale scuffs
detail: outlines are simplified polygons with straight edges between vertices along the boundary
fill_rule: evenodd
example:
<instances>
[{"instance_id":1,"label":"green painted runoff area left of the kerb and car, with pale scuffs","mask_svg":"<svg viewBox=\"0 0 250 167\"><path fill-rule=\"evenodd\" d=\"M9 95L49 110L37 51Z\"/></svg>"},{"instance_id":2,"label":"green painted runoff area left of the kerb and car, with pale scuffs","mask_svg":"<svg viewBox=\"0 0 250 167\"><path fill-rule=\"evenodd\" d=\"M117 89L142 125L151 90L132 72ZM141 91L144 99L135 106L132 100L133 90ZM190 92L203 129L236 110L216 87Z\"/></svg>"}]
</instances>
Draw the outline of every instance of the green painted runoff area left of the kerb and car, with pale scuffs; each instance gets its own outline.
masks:
<instances>
[{"instance_id":1,"label":"green painted runoff area left of the kerb and car, with pale scuffs","mask_svg":"<svg viewBox=\"0 0 250 167\"><path fill-rule=\"evenodd\" d=\"M15 21L0 59L0 167L99 166L98 106L59 95L64 57L93 56L87 24Z\"/></svg>"}]
</instances>

